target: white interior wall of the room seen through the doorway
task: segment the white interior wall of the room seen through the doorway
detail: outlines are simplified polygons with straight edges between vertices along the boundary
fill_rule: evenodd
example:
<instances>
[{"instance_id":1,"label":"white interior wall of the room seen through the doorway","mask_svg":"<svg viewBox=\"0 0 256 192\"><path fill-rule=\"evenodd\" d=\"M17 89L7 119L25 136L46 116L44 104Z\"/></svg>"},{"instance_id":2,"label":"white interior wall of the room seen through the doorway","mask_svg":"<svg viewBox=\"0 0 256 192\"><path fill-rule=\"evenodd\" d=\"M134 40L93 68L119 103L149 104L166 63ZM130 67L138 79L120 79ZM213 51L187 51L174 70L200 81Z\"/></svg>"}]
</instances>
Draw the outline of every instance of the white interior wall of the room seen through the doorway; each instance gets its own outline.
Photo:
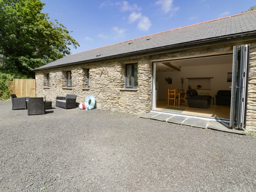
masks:
<instances>
[{"instance_id":1,"label":"white interior wall of the room seen through the doorway","mask_svg":"<svg viewBox=\"0 0 256 192\"><path fill-rule=\"evenodd\" d=\"M227 82L227 74L232 72L232 63L221 64L221 65L198 65L198 66L187 66L180 67L180 71L173 72L156 72L156 84L157 84L157 95L158 100L166 99L166 93L168 88L181 89L181 78L184 78L183 88L188 89L188 79L193 77L213 77L211 79L211 89L204 90L204 87L198 91L199 95L211 95L215 97L218 90L231 90L231 82ZM166 78L172 78L172 84L166 82ZM203 79L198 79L204 81ZM204 84L204 82L202 82Z\"/></svg>"}]
</instances>

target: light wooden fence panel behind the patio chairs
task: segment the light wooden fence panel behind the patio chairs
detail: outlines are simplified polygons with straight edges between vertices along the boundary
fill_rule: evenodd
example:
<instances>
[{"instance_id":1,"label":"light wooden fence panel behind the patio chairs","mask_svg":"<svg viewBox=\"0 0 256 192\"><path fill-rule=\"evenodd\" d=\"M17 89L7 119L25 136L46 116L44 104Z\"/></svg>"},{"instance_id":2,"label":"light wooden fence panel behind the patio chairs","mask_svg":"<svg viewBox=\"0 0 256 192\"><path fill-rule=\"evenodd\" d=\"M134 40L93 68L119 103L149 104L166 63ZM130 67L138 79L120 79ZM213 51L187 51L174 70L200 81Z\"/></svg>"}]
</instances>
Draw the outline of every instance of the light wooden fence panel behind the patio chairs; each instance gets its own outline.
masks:
<instances>
[{"instance_id":1,"label":"light wooden fence panel behind the patio chairs","mask_svg":"<svg viewBox=\"0 0 256 192\"><path fill-rule=\"evenodd\" d=\"M36 97L36 79L13 79L12 86L17 97Z\"/></svg>"}]
</instances>

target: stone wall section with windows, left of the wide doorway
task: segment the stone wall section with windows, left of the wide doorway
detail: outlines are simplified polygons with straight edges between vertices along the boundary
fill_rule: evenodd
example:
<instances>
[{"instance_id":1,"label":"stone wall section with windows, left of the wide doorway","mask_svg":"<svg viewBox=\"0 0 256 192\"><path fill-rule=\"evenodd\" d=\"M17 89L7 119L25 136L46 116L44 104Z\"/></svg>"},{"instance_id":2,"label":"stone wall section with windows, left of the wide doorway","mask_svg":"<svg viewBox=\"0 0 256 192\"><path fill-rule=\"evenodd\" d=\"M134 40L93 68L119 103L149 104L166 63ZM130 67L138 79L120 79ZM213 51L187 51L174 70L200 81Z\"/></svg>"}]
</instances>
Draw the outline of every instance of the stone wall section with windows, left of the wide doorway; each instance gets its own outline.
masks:
<instances>
[{"instance_id":1,"label":"stone wall section with windows, left of the wide doorway","mask_svg":"<svg viewBox=\"0 0 256 192\"><path fill-rule=\"evenodd\" d=\"M125 89L125 64L138 63L138 88ZM85 85L84 68L90 68L90 88ZM65 72L72 72L72 88L65 86ZM50 86L44 86L45 75L49 73ZM77 102L84 102L90 94L95 96L97 108L134 113L137 115L151 109L152 62L147 58L137 60L105 61L73 67L54 68L36 72L36 95L55 100L67 93L77 95Z\"/></svg>"}]
</instances>

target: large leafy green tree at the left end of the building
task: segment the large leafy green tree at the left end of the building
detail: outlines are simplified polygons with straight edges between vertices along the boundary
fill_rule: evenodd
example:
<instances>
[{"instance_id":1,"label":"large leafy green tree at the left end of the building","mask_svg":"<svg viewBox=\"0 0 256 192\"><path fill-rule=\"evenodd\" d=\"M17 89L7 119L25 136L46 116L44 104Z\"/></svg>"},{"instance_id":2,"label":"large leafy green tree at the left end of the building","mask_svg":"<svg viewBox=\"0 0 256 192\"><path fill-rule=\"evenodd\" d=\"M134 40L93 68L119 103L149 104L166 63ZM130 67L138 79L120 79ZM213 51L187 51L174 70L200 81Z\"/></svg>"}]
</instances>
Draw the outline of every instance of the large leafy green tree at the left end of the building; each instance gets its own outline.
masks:
<instances>
[{"instance_id":1,"label":"large leafy green tree at the left end of the building","mask_svg":"<svg viewBox=\"0 0 256 192\"><path fill-rule=\"evenodd\" d=\"M0 0L0 72L35 77L33 69L70 54L79 46L67 28L47 13L40 0Z\"/></svg>"}]
</instances>

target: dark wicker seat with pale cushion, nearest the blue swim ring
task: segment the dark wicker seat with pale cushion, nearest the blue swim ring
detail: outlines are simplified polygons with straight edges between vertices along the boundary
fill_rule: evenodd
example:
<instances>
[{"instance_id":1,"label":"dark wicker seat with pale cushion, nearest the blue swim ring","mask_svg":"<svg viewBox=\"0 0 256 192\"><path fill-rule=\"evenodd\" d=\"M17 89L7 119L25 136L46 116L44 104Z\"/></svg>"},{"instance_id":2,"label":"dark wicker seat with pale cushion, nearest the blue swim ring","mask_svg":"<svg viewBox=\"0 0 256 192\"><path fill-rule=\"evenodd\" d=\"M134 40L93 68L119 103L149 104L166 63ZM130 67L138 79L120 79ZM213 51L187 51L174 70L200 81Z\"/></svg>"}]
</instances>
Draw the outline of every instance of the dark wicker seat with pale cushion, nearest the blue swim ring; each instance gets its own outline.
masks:
<instances>
[{"instance_id":1,"label":"dark wicker seat with pale cushion, nearest the blue swim ring","mask_svg":"<svg viewBox=\"0 0 256 192\"><path fill-rule=\"evenodd\" d=\"M67 94L66 97L56 97L56 107L65 109L76 108L76 95Z\"/></svg>"}]
</instances>

